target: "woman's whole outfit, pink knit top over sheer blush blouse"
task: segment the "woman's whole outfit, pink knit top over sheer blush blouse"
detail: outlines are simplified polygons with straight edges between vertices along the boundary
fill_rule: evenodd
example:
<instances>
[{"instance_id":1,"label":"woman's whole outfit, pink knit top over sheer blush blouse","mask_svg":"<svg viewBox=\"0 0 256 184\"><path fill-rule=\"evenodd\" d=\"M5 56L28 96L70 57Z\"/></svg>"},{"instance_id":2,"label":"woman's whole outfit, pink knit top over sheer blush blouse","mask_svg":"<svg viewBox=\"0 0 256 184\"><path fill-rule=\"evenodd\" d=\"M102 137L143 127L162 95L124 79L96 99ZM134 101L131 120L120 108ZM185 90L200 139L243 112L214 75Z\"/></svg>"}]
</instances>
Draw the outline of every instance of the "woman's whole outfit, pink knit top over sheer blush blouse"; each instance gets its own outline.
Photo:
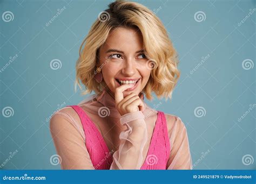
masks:
<instances>
[{"instance_id":1,"label":"woman's whole outfit, pink knit top over sheer blush blouse","mask_svg":"<svg viewBox=\"0 0 256 184\"><path fill-rule=\"evenodd\" d=\"M192 169L185 124L145 105L120 115L106 90L60 109L50 131L62 169Z\"/></svg>"}]
</instances>

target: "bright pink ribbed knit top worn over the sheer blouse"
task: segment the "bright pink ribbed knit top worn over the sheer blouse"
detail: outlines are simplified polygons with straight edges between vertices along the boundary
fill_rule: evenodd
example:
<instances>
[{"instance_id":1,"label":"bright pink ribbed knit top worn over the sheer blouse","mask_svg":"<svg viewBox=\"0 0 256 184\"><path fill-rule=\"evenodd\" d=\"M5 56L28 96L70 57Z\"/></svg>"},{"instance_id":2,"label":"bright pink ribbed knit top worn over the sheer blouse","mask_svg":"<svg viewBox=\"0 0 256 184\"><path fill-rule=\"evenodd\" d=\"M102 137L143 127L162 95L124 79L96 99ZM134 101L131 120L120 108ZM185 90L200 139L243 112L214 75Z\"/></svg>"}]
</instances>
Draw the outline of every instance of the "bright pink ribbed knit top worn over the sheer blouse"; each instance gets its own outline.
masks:
<instances>
[{"instance_id":1,"label":"bright pink ribbed knit top worn over the sheer blouse","mask_svg":"<svg viewBox=\"0 0 256 184\"><path fill-rule=\"evenodd\" d=\"M86 137L85 145L90 154L95 169L110 169L113 155L106 146L104 138L91 121L86 112L78 105L71 105L78 114L83 124ZM149 152L140 169L167 169L167 161L170 156L170 141L167 133L166 119L164 113L158 111L156 126L150 142Z\"/></svg>"}]
</instances>

